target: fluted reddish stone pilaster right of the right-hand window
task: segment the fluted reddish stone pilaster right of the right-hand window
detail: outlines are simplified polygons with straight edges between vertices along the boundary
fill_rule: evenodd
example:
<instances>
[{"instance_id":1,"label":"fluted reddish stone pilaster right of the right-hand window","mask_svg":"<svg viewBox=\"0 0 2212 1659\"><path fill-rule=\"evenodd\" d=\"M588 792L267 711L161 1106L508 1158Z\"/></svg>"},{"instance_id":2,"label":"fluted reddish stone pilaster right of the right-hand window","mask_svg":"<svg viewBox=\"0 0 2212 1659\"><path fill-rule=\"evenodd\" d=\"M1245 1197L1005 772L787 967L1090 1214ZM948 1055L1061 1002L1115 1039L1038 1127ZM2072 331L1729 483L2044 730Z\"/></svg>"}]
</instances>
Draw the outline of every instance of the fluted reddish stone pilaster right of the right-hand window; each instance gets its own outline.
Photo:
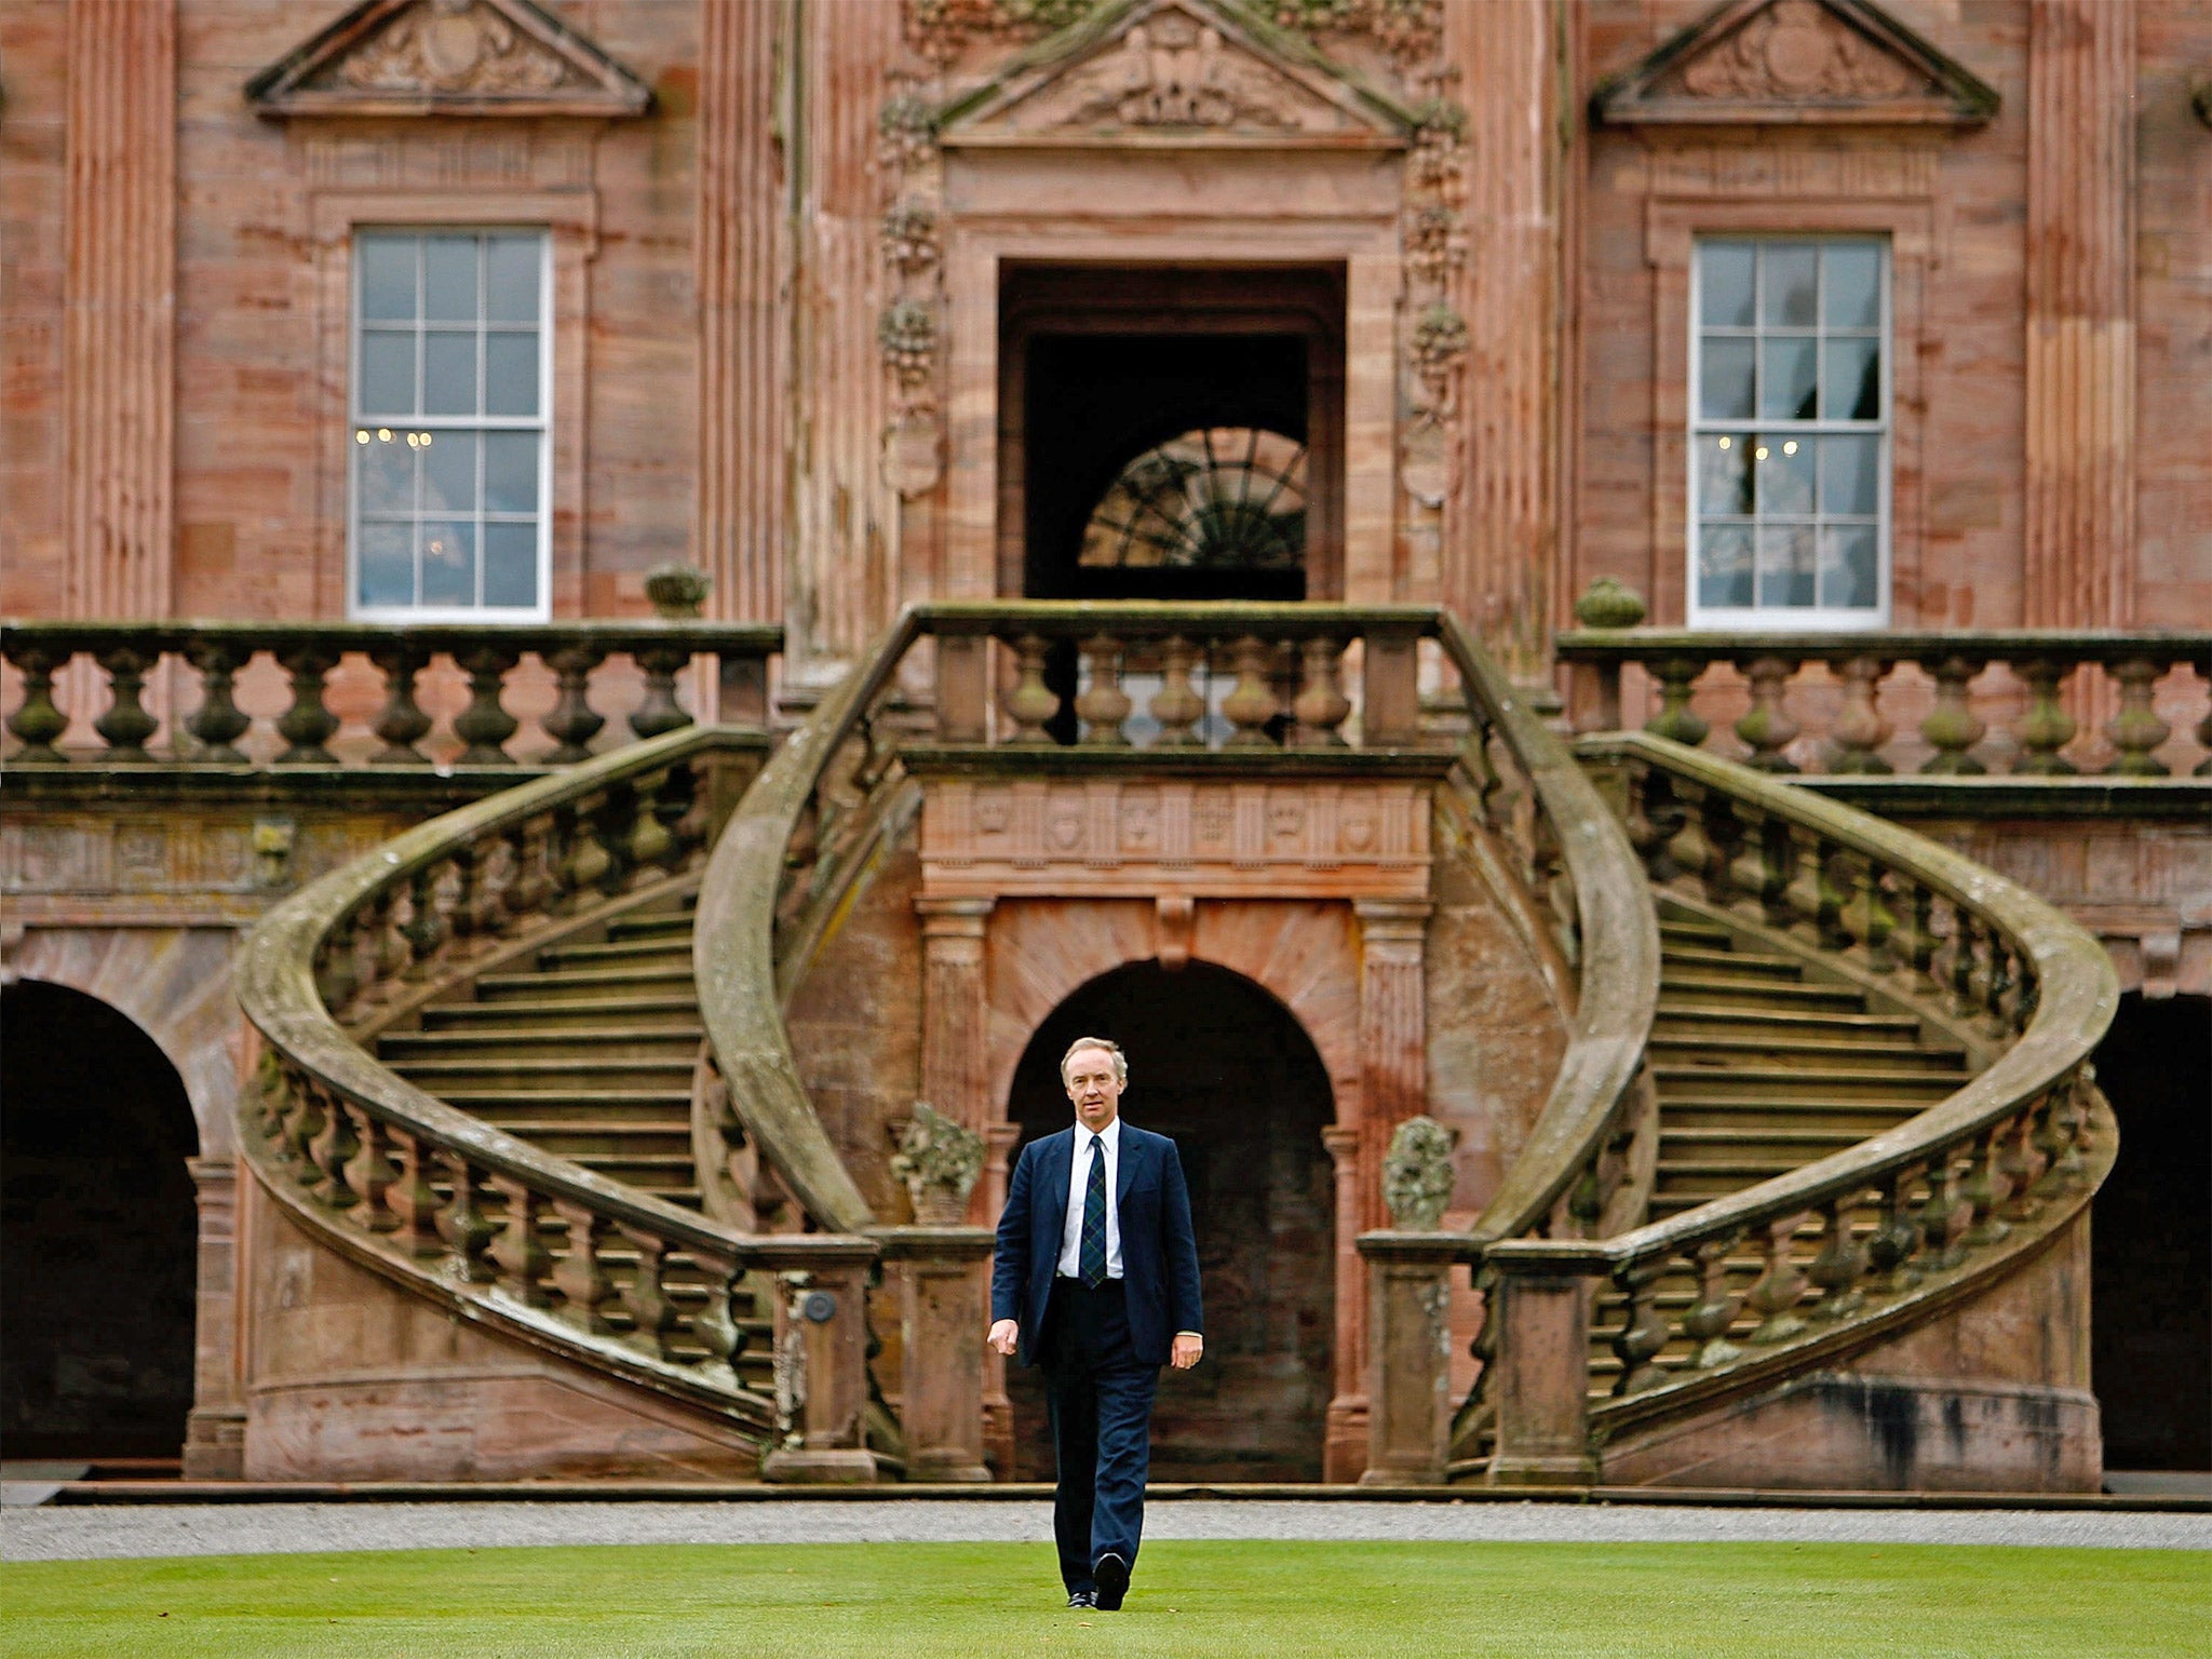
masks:
<instances>
[{"instance_id":1,"label":"fluted reddish stone pilaster right of the right-hand window","mask_svg":"<svg viewBox=\"0 0 2212 1659\"><path fill-rule=\"evenodd\" d=\"M2135 7L2028 7L2031 628L2135 617Z\"/></svg>"}]
</instances>

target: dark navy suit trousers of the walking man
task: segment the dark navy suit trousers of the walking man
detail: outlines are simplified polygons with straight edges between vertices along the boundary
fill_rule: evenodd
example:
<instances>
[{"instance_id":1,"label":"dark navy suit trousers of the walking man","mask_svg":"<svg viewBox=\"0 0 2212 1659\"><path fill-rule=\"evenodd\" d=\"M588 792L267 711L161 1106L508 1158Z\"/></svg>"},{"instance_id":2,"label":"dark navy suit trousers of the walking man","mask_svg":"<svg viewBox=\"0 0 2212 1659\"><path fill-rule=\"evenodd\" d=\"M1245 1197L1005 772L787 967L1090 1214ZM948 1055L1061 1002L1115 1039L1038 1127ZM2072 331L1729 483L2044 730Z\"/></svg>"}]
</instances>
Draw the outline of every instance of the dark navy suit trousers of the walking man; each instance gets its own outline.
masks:
<instances>
[{"instance_id":1,"label":"dark navy suit trousers of the walking man","mask_svg":"<svg viewBox=\"0 0 2212 1659\"><path fill-rule=\"evenodd\" d=\"M1097 1290L1053 1281L1040 1360L1060 1469L1053 1540L1073 1595L1097 1588L1091 1568L1108 1551L1137 1564L1159 1367L1137 1363L1119 1279Z\"/></svg>"}]
</instances>

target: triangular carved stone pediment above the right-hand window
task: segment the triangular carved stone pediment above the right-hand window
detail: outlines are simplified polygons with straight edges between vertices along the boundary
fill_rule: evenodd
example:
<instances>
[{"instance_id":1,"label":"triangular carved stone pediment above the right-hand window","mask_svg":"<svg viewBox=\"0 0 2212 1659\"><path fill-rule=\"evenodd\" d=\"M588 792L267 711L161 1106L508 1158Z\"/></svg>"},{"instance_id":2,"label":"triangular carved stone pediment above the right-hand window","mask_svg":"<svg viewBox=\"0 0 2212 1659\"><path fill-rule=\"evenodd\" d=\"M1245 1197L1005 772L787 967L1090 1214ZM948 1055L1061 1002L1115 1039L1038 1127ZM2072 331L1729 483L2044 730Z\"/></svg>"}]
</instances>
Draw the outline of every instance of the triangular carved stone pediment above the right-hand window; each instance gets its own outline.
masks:
<instances>
[{"instance_id":1,"label":"triangular carved stone pediment above the right-hand window","mask_svg":"<svg viewBox=\"0 0 2212 1659\"><path fill-rule=\"evenodd\" d=\"M1975 126L1997 93L1874 0L1728 0L1590 108L1608 126Z\"/></svg>"}]
</instances>

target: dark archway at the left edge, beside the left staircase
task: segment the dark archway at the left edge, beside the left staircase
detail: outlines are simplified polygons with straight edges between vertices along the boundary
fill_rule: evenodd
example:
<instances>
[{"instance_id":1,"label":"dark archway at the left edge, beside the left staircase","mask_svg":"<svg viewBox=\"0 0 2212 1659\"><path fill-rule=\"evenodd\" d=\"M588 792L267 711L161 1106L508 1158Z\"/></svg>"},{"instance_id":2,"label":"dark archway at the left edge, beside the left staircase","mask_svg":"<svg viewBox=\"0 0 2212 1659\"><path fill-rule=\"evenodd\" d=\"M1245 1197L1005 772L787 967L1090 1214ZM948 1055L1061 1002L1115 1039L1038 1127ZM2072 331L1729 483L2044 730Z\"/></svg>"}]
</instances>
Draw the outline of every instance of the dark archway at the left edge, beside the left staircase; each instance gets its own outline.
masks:
<instances>
[{"instance_id":1,"label":"dark archway at the left edge, beside the left staircase","mask_svg":"<svg viewBox=\"0 0 2212 1659\"><path fill-rule=\"evenodd\" d=\"M0 1447L173 1458L192 1409L192 1106L97 998L0 991Z\"/></svg>"}]
</instances>

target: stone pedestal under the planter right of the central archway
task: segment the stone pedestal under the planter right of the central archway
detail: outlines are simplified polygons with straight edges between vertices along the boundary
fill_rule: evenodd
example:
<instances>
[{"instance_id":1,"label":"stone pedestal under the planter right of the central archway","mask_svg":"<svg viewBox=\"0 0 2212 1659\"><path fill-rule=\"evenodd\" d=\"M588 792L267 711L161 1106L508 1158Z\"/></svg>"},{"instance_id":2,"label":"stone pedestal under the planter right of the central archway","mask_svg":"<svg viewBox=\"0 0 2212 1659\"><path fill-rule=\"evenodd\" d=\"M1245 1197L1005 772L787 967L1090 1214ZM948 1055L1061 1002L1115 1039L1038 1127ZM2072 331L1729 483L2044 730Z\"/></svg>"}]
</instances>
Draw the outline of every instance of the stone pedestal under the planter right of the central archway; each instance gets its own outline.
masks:
<instances>
[{"instance_id":1,"label":"stone pedestal under the planter right of the central archway","mask_svg":"<svg viewBox=\"0 0 2212 1659\"><path fill-rule=\"evenodd\" d=\"M1367 1471L1363 1486L1442 1486L1451 1453L1451 1270L1464 1232L1363 1232Z\"/></svg>"}]
</instances>

